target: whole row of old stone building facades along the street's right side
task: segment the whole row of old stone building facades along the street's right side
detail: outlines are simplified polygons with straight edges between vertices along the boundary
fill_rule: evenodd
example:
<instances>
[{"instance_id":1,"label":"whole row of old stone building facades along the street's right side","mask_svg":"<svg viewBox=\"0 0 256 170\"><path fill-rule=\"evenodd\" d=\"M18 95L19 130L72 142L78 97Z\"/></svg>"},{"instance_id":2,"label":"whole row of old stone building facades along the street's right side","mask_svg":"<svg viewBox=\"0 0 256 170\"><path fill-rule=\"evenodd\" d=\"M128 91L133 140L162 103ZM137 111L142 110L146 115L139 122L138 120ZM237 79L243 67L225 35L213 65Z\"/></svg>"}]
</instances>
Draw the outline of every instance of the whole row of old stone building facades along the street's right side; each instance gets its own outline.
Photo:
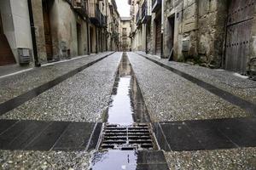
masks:
<instances>
[{"instance_id":1,"label":"whole row of old stone building facades along the street's right side","mask_svg":"<svg viewBox=\"0 0 256 170\"><path fill-rule=\"evenodd\" d=\"M150 22L142 21L145 2L151 4ZM129 3L134 19L131 28L138 23L131 29L133 50L241 74L255 71L253 0L129 0ZM136 19L134 8L141 8L137 10L141 17Z\"/></svg>"}]
</instances>

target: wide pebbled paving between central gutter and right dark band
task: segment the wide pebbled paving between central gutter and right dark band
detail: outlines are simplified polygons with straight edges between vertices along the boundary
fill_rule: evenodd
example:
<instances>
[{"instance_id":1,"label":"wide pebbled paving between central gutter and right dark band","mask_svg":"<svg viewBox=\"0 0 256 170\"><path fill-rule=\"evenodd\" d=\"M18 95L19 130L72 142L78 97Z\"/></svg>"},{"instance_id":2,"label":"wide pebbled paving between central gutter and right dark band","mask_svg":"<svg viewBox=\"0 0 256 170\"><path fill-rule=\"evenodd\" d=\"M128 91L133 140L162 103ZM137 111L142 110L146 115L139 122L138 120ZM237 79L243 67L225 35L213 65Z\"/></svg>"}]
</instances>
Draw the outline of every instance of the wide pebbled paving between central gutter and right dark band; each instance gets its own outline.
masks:
<instances>
[{"instance_id":1,"label":"wide pebbled paving between central gutter and right dark band","mask_svg":"<svg viewBox=\"0 0 256 170\"><path fill-rule=\"evenodd\" d=\"M128 56L153 122L252 116L138 54Z\"/></svg>"}]
</instances>

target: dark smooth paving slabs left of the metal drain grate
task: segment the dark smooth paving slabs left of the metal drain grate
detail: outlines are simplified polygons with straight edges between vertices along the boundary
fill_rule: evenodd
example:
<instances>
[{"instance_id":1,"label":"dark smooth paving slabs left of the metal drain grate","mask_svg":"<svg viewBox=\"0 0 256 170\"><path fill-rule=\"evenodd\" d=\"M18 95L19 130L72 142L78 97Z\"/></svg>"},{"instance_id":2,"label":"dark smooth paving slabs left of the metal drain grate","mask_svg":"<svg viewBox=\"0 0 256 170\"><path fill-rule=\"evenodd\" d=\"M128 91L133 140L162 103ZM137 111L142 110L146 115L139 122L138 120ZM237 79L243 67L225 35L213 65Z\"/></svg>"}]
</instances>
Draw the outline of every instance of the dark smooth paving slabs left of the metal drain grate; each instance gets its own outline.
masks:
<instances>
[{"instance_id":1,"label":"dark smooth paving slabs left of the metal drain grate","mask_svg":"<svg viewBox=\"0 0 256 170\"><path fill-rule=\"evenodd\" d=\"M102 123L0 120L0 150L92 150Z\"/></svg>"}]
</instances>

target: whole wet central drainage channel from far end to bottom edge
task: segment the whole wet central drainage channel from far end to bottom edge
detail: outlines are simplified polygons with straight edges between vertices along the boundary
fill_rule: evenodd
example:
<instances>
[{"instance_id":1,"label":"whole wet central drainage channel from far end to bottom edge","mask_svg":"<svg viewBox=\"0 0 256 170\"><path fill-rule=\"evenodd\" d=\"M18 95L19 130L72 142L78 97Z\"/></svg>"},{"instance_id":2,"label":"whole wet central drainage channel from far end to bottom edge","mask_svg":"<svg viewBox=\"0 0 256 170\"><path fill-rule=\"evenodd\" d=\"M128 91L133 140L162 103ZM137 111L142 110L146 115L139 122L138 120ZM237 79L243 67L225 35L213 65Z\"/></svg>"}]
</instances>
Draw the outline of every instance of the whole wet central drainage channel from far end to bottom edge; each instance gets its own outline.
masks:
<instances>
[{"instance_id":1,"label":"whole wet central drainage channel from far end to bottom edge","mask_svg":"<svg viewBox=\"0 0 256 170\"><path fill-rule=\"evenodd\" d=\"M107 118L105 120L107 130L105 129L106 132L103 131L102 140L113 139L111 142L117 144L119 142L124 142L121 140L127 139L126 145L130 144L131 141L129 141L129 138L131 137L131 134L128 132L129 130L127 130L126 134L125 127L119 127L119 125L131 126L132 124L137 123L138 126L142 126L139 124L150 122L150 118L143 101L143 95L126 53L123 54L119 64L111 99L112 101L109 104ZM142 127L142 129L134 131L133 135L138 135L137 133L141 133L140 131L143 132L144 128ZM109 129L113 130L113 132L109 132L109 135L113 136L107 138L106 135ZM117 134L121 136L114 136ZM117 140L114 141L114 139ZM143 139L142 136L142 139L138 139L137 141L142 142L144 140L145 139ZM127 148L131 148L131 150L127 150ZM119 149L111 150L102 149L101 147L101 150L94 153L90 169L168 169L166 158L161 150L145 150L142 147L139 147L140 149L136 150L136 148L137 147L121 147Z\"/></svg>"}]
</instances>

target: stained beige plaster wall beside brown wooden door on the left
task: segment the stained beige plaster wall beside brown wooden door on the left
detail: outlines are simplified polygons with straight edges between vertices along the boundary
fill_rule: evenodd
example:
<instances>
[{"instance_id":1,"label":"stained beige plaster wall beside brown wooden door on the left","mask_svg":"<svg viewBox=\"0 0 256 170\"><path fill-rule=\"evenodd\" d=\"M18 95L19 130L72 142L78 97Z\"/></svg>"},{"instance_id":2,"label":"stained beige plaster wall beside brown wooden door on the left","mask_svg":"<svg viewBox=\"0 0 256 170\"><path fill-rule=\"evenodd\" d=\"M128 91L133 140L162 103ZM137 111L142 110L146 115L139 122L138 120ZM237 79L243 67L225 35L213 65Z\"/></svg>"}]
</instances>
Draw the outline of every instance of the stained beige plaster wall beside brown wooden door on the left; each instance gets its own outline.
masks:
<instances>
[{"instance_id":1,"label":"stained beige plaster wall beside brown wooden door on the left","mask_svg":"<svg viewBox=\"0 0 256 170\"><path fill-rule=\"evenodd\" d=\"M55 59L67 58L64 48L70 50L70 57L87 54L86 22L81 19L64 0L55 0L50 4L50 26ZM80 52L77 36L77 23L81 26Z\"/></svg>"}]
</instances>

